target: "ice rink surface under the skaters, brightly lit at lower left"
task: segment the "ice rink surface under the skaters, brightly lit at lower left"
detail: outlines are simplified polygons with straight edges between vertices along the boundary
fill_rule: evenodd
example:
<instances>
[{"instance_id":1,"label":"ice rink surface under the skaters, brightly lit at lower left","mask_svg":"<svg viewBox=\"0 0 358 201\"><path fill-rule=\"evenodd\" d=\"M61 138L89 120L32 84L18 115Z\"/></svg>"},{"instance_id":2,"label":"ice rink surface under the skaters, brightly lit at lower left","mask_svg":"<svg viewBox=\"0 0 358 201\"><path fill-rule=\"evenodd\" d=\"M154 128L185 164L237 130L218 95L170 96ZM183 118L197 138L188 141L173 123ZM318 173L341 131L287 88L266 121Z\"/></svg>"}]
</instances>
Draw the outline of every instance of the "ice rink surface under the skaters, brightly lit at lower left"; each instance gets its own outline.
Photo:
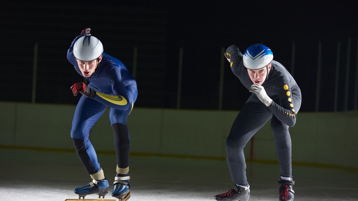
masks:
<instances>
[{"instance_id":1,"label":"ice rink surface under the skaters, brightly lit at lower left","mask_svg":"<svg viewBox=\"0 0 358 201\"><path fill-rule=\"evenodd\" d=\"M115 155L98 157L113 183ZM0 201L78 199L74 189L92 180L75 152L0 148L0 164ZM247 166L249 201L278 201L279 165ZM215 201L214 195L233 187L225 160L131 155L129 173L128 201ZM293 179L295 201L358 201L357 172L296 165ZM105 199L114 200L110 193Z\"/></svg>"}]
</instances>

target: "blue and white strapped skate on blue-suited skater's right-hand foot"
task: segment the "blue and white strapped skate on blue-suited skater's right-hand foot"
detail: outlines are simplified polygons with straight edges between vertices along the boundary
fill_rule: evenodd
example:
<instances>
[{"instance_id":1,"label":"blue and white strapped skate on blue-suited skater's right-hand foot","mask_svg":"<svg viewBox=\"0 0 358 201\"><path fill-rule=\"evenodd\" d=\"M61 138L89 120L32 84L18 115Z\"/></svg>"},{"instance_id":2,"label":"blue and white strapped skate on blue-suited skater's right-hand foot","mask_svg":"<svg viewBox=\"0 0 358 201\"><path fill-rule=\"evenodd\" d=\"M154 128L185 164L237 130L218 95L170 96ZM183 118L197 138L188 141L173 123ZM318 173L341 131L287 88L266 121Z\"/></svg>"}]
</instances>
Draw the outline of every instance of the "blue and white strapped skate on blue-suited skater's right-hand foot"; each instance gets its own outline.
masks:
<instances>
[{"instance_id":1,"label":"blue and white strapped skate on blue-suited skater's right-hand foot","mask_svg":"<svg viewBox=\"0 0 358 201\"><path fill-rule=\"evenodd\" d=\"M112 197L118 198L119 201L126 201L130 197L130 183L129 183L129 175L116 174L114 178L114 188L112 191Z\"/></svg>"}]
</instances>

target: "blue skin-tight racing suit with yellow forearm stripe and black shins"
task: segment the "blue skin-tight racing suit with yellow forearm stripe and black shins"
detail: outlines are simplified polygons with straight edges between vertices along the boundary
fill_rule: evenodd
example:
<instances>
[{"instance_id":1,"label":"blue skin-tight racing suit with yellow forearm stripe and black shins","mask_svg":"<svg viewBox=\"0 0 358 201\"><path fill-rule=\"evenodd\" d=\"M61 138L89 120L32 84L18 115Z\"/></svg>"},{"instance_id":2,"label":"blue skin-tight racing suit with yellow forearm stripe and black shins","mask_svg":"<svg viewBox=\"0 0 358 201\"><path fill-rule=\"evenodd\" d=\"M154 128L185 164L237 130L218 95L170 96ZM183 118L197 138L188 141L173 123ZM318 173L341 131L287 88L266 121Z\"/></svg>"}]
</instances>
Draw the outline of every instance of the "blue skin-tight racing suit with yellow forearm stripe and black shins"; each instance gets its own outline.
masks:
<instances>
[{"instance_id":1,"label":"blue skin-tight racing suit with yellow forearm stripe and black shins","mask_svg":"<svg viewBox=\"0 0 358 201\"><path fill-rule=\"evenodd\" d=\"M73 46L80 37L84 36L77 36L68 49L67 60L82 75L73 54ZM109 107L109 119L114 132L117 166L127 168L129 166L130 148L127 116L137 99L136 81L120 60L104 52L102 53L102 61L87 81L89 82L88 87L95 89L96 95L94 98L82 95L75 110L71 137L74 141L77 155L88 174L94 174L101 170L95 149L89 139L89 134L93 125L106 108Z\"/></svg>"}]
</instances>

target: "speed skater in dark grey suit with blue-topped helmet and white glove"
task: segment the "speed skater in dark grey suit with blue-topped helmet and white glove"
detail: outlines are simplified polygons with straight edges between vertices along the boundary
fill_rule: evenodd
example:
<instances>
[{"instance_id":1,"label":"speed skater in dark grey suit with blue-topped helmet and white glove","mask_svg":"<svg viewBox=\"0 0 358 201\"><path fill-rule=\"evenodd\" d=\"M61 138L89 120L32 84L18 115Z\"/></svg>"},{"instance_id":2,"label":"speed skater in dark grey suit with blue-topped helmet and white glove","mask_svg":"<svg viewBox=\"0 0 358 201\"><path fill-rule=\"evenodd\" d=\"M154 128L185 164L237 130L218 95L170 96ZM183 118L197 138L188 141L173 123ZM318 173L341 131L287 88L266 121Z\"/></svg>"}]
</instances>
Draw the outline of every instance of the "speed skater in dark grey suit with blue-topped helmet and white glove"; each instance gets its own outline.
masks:
<instances>
[{"instance_id":1,"label":"speed skater in dark grey suit with blue-topped helmet and white glove","mask_svg":"<svg viewBox=\"0 0 358 201\"><path fill-rule=\"evenodd\" d=\"M236 45L231 45L225 56L233 74L252 94L234 120L226 140L227 163L234 188L214 198L218 201L249 200L244 147L271 119L280 162L280 201L293 201L295 182L292 179L289 127L296 123L296 114L301 107L301 90L286 68L273 60L271 49L265 45L251 45L244 54Z\"/></svg>"}]
</instances>

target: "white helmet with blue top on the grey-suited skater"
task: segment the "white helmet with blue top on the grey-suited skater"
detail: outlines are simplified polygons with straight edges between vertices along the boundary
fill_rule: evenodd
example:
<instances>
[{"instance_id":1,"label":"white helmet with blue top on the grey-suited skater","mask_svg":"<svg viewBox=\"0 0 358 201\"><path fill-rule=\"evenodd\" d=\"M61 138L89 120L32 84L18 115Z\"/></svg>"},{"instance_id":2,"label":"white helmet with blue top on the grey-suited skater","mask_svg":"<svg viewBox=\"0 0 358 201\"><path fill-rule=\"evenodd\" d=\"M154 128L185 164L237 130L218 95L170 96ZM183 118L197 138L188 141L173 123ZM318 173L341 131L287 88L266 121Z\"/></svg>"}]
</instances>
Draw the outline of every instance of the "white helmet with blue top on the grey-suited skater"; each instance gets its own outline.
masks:
<instances>
[{"instance_id":1,"label":"white helmet with blue top on the grey-suited skater","mask_svg":"<svg viewBox=\"0 0 358 201\"><path fill-rule=\"evenodd\" d=\"M246 49L243 55L243 62L244 66L248 69L256 70L270 64L273 58L274 55L270 48L265 45L256 44Z\"/></svg>"}]
</instances>

